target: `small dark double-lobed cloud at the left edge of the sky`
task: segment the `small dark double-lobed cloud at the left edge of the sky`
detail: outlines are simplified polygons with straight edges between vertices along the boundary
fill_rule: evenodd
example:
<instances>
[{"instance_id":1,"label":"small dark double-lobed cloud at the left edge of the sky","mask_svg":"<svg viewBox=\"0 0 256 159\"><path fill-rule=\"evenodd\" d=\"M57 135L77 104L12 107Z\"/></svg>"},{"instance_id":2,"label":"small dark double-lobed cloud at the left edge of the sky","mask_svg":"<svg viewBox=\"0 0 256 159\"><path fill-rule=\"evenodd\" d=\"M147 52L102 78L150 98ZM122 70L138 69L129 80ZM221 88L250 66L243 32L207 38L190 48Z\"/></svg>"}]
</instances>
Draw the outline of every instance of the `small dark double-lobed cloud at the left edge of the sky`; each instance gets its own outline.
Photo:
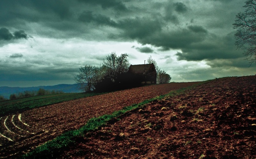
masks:
<instances>
[{"instance_id":1,"label":"small dark double-lobed cloud at the left edge of the sky","mask_svg":"<svg viewBox=\"0 0 256 159\"><path fill-rule=\"evenodd\" d=\"M0 29L0 40L12 40L12 39L28 39L28 35L25 33L24 30L16 31L13 33L10 33L10 31L7 28L1 28Z\"/></svg>"}]
</instances>

